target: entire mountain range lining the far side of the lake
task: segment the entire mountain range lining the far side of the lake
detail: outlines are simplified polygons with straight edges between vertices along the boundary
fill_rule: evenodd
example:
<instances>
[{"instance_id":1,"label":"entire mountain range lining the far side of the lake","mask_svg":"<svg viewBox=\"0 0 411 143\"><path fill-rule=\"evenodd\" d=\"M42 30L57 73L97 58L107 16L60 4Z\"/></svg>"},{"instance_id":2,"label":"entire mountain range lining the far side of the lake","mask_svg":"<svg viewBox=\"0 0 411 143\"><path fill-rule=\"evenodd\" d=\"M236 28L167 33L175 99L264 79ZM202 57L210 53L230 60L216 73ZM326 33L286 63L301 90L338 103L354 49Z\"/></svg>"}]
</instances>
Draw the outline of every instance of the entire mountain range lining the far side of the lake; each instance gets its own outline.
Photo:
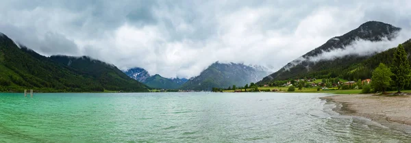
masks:
<instances>
[{"instance_id":1,"label":"entire mountain range lining the far side of the lake","mask_svg":"<svg viewBox=\"0 0 411 143\"><path fill-rule=\"evenodd\" d=\"M264 85L304 77L366 79L371 78L373 69L379 63L390 64L395 49L367 54L340 52L340 55L332 58L325 58L324 55L350 50L347 47L355 47L358 41L390 41L397 38L399 31L399 27L369 21L343 36L327 40L325 44L301 55L271 75L262 66L215 62L200 75L190 79L151 76L143 68L121 71L112 64L86 56L45 57L0 33L0 91L21 92L34 89L37 92L148 92L149 88L210 90L233 85L245 86L251 82ZM411 55L410 40L403 42L403 47Z\"/></svg>"}]
</instances>

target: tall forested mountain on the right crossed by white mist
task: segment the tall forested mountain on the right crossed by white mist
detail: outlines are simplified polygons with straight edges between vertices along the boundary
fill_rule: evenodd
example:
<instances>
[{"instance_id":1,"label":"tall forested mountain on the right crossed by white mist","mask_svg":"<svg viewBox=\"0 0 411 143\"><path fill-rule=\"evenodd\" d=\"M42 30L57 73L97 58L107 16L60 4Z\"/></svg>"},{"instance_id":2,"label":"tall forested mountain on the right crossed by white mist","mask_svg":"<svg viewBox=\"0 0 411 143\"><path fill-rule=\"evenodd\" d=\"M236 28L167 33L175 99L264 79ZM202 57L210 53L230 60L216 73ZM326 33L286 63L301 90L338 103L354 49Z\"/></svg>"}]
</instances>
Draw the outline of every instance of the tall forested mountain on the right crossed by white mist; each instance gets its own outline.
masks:
<instances>
[{"instance_id":1,"label":"tall forested mountain on the right crossed by white mist","mask_svg":"<svg viewBox=\"0 0 411 143\"><path fill-rule=\"evenodd\" d=\"M330 60L316 60L314 62L312 59L321 56L322 53L334 51L336 49L345 49L345 47L353 44L353 42L356 42L357 40L372 42L377 42L383 40L384 38L392 40L397 36L397 32L400 30L400 28L386 23L377 21L366 22L360 25L357 29L353 29L343 36L331 38L320 47L306 53L297 60L288 63L277 72L264 77L264 79L259 81L258 84L262 85L265 83L272 83L273 81L303 77L343 77L344 79L351 80L370 78L371 76L369 73L372 69L363 68L361 63L375 55L375 53L371 53L369 55L349 54L335 57ZM376 64L376 66L378 64ZM360 70L362 73L356 72Z\"/></svg>"}]
</instances>

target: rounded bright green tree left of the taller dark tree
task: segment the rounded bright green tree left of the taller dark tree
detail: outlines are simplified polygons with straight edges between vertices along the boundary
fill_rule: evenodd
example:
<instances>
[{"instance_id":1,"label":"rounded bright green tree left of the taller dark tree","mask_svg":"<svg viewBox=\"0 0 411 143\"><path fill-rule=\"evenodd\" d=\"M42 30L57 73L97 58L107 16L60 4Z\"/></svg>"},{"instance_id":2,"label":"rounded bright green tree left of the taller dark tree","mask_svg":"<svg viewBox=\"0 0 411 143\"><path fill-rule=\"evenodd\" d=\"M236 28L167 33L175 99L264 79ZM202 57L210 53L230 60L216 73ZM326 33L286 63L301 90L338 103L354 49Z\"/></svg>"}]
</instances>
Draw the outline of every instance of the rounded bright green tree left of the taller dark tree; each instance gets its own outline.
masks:
<instances>
[{"instance_id":1,"label":"rounded bright green tree left of the taller dark tree","mask_svg":"<svg viewBox=\"0 0 411 143\"><path fill-rule=\"evenodd\" d=\"M371 86L377 91L385 92L386 88L390 86L391 75L393 73L391 73L390 68L380 63L373 71Z\"/></svg>"}]
</instances>

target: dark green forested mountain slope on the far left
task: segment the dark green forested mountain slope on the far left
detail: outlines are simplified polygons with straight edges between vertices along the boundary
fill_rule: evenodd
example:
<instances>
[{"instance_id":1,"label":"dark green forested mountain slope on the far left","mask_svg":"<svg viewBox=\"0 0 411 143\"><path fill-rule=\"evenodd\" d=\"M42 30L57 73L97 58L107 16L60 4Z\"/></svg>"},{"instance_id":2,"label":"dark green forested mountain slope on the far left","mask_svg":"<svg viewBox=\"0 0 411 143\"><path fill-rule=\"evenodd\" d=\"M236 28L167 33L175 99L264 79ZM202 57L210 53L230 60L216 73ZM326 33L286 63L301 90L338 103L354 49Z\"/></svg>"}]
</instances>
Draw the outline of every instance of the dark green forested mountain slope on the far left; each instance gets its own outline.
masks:
<instances>
[{"instance_id":1,"label":"dark green forested mountain slope on the far left","mask_svg":"<svg viewBox=\"0 0 411 143\"><path fill-rule=\"evenodd\" d=\"M62 59L45 57L26 47L19 48L13 40L0 34L0 91L147 91L147 86L127 77L115 66L97 60L85 60L86 57L75 60L75 66L68 66L61 64Z\"/></svg>"}]
</instances>

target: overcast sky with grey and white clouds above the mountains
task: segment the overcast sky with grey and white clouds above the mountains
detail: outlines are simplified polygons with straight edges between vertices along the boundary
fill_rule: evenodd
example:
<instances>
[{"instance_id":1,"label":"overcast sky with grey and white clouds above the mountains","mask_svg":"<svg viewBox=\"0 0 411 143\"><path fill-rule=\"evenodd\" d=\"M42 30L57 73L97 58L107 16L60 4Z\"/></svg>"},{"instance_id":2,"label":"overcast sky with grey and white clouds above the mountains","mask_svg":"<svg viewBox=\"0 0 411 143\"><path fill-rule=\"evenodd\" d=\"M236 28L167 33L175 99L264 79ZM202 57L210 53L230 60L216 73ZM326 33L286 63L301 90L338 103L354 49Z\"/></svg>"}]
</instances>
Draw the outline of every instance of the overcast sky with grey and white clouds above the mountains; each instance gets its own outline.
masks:
<instances>
[{"instance_id":1,"label":"overcast sky with grey and white clouds above the mountains","mask_svg":"<svg viewBox=\"0 0 411 143\"><path fill-rule=\"evenodd\" d=\"M366 21L411 27L409 0L0 3L0 32L42 55L88 55L164 77L196 76L216 61L278 70Z\"/></svg>"}]
</instances>

